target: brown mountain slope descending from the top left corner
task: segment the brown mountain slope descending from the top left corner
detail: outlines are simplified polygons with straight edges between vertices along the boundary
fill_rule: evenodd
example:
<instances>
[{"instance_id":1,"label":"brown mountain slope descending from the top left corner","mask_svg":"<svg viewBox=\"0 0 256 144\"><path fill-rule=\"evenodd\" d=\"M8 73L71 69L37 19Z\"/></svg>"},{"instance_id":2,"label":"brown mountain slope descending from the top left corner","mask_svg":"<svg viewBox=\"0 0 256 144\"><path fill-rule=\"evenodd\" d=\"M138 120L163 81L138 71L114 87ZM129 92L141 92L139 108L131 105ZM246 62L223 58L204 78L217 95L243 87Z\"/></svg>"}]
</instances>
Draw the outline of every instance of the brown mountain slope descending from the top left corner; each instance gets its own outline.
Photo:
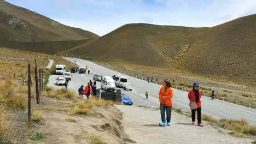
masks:
<instances>
[{"instance_id":1,"label":"brown mountain slope descending from the top left corner","mask_svg":"<svg viewBox=\"0 0 256 144\"><path fill-rule=\"evenodd\" d=\"M98 35L62 25L25 8L0 0L0 39L9 41L59 41L95 39Z\"/></svg>"}]
</instances>

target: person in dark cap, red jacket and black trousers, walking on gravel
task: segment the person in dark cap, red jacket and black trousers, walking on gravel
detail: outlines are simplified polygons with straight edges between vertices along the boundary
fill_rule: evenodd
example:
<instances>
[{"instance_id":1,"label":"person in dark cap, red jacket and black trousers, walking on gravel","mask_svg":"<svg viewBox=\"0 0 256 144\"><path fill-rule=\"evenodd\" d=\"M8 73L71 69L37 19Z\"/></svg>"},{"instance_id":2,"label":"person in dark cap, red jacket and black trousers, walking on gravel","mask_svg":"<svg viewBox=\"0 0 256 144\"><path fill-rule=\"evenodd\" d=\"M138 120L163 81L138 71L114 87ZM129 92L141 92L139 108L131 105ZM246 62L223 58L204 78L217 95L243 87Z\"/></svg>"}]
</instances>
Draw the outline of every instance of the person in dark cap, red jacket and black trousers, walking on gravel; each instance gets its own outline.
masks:
<instances>
[{"instance_id":1,"label":"person in dark cap, red jacket and black trousers, walking on gravel","mask_svg":"<svg viewBox=\"0 0 256 144\"><path fill-rule=\"evenodd\" d=\"M201 97L202 91L199 90L199 83L195 82L193 84L193 90L189 91L188 98L190 101L196 101L197 109L191 110L192 124L195 124L195 111L197 112L197 125L203 127L201 123Z\"/></svg>"}]
</instances>

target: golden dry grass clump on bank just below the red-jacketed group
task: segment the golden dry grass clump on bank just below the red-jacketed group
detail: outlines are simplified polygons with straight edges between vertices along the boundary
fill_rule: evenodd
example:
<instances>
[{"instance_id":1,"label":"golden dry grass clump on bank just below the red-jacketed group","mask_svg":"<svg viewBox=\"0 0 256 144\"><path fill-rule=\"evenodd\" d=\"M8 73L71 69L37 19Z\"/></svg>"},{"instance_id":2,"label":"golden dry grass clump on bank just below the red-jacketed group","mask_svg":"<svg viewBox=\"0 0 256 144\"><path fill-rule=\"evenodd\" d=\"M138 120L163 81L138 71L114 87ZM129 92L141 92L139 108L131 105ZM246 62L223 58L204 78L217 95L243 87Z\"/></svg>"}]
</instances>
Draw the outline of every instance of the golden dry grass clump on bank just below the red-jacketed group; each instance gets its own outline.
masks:
<instances>
[{"instance_id":1,"label":"golden dry grass clump on bank just below the red-jacketed group","mask_svg":"<svg viewBox=\"0 0 256 144\"><path fill-rule=\"evenodd\" d=\"M110 104L114 104L112 101L103 100L98 97L92 97L74 105L73 111L69 112L70 115L75 114L84 114L84 115L91 115L92 107L94 106L107 106Z\"/></svg>"}]
</instances>

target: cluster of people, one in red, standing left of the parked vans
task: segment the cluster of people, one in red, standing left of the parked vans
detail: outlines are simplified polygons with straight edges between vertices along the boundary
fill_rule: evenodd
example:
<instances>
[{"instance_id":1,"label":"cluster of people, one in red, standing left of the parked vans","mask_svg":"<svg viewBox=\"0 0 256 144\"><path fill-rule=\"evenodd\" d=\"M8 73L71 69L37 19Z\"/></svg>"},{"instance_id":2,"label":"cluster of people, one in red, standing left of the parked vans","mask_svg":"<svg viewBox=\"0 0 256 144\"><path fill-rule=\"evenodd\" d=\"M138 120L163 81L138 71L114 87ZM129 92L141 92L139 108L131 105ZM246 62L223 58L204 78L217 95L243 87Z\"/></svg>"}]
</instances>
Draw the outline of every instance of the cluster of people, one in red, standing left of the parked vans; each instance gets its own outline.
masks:
<instances>
[{"instance_id":1,"label":"cluster of people, one in red, standing left of the parked vans","mask_svg":"<svg viewBox=\"0 0 256 144\"><path fill-rule=\"evenodd\" d=\"M94 84L92 85L92 81L90 80L90 82L87 83L87 86L84 88L84 85L82 85L79 89L78 89L78 93L79 95L86 95L87 99L90 98L90 95L96 95L97 94L97 86L96 86L96 81L94 81Z\"/></svg>"}]
</instances>

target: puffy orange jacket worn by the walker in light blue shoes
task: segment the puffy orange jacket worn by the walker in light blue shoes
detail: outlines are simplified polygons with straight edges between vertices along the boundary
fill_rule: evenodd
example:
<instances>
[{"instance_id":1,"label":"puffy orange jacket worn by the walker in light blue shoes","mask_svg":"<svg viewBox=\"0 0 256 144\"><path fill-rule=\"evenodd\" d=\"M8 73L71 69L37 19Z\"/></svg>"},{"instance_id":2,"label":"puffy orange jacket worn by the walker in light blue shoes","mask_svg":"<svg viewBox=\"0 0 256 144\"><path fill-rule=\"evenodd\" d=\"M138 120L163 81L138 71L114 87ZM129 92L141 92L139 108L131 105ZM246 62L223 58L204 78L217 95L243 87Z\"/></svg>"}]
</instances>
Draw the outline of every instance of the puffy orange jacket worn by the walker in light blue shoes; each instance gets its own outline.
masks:
<instances>
[{"instance_id":1,"label":"puffy orange jacket worn by the walker in light blue shoes","mask_svg":"<svg viewBox=\"0 0 256 144\"><path fill-rule=\"evenodd\" d=\"M166 89L162 86L159 91L159 98L161 98L160 104L165 106L172 106L173 89L171 87Z\"/></svg>"}]
</instances>

